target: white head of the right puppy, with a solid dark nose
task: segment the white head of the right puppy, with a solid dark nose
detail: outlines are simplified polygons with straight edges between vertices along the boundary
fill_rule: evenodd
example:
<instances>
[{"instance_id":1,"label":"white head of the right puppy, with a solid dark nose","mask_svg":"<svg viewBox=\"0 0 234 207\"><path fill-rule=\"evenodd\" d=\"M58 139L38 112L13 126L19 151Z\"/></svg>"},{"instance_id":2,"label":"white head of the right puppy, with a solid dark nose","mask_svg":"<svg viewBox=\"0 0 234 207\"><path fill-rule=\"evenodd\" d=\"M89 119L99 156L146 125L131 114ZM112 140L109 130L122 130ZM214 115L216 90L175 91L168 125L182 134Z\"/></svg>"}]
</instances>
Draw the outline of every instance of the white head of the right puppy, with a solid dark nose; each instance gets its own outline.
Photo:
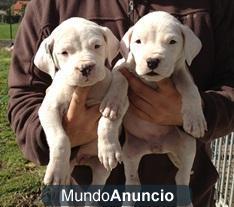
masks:
<instances>
[{"instance_id":1,"label":"white head of the right puppy, with a solid dark nose","mask_svg":"<svg viewBox=\"0 0 234 207\"><path fill-rule=\"evenodd\" d=\"M170 77L175 69L191 65L201 42L191 29L166 12L142 17L121 40L121 52L127 62L135 63L135 72L147 81Z\"/></svg>"}]
</instances>

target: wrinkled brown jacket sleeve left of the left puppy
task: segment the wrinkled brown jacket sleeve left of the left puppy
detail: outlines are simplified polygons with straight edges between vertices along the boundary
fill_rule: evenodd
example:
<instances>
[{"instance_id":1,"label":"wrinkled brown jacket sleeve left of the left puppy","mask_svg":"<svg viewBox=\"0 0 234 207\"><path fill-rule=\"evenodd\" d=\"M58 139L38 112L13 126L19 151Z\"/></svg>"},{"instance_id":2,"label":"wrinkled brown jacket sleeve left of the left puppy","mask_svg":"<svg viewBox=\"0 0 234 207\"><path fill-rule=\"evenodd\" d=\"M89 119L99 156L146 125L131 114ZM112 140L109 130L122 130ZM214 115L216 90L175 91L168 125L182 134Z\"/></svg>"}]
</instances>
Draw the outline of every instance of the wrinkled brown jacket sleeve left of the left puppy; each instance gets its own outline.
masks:
<instances>
[{"instance_id":1,"label":"wrinkled brown jacket sleeve left of the left puppy","mask_svg":"<svg viewBox=\"0 0 234 207\"><path fill-rule=\"evenodd\" d=\"M33 64L40 42L51 32L49 24L41 25L42 2L34 0L27 6L17 33L8 76L8 119L25 158L37 164L47 164L49 160L49 149L39 122L38 109L46 88L51 84L51 78Z\"/></svg>"}]
</instances>

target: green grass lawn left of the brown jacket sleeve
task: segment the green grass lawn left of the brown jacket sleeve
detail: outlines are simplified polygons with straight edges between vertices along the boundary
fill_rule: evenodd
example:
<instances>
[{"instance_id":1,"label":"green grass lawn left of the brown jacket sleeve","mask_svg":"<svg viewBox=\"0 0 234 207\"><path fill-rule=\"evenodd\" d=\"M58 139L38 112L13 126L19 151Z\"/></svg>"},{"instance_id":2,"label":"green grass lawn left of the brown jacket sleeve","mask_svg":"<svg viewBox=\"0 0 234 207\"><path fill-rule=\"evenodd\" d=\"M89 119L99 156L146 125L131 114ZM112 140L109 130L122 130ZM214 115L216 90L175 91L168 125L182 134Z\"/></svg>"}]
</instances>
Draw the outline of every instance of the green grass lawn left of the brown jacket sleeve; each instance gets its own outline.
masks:
<instances>
[{"instance_id":1,"label":"green grass lawn left of the brown jacket sleeve","mask_svg":"<svg viewBox=\"0 0 234 207\"><path fill-rule=\"evenodd\" d=\"M0 50L0 206L43 206L44 168L22 156L7 120L7 74L10 54Z\"/></svg>"}]
</instances>

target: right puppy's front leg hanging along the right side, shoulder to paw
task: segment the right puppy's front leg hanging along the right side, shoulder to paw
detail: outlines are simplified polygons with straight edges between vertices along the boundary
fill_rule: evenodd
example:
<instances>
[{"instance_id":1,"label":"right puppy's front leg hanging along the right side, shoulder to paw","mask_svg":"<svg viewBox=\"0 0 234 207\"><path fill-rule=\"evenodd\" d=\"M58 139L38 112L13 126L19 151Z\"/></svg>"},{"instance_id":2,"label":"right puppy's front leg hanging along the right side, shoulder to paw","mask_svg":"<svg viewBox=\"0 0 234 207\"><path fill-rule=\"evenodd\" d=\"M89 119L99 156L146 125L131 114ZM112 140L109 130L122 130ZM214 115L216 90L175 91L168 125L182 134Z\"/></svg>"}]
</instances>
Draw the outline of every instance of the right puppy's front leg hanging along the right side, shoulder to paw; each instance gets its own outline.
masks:
<instances>
[{"instance_id":1,"label":"right puppy's front leg hanging along the right side, shoulder to paw","mask_svg":"<svg viewBox=\"0 0 234 207\"><path fill-rule=\"evenodd\" d=\"M198 88L186 68L175 71L173 81L182 96L184 130L194 137L203 137L205 130L207 130L207 124Z\"/></svg>"}]
</instances>

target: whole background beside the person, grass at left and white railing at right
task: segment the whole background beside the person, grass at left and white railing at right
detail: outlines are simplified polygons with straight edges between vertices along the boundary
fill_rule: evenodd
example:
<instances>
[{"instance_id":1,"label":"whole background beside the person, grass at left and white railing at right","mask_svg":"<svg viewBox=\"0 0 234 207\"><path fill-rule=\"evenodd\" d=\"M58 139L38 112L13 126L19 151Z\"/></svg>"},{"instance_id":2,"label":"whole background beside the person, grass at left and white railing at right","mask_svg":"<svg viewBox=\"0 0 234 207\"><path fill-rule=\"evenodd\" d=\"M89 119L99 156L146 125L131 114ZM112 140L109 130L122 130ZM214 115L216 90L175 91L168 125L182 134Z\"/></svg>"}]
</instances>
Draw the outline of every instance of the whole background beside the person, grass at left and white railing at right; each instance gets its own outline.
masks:
<instances>
[{"instance_id":1,"label":"whole background beside the person, grass at left and white railing at right","mask_svg":"<svg viewBox=\"0 0 234 207\"><path fill-rule=\"evenodd\" d=\"M45 0L46 1L46 0ZM7 76L14 39L29 0L0 0L0 207L43 206L40 201L44 167L25 160L7 119ZM217 207L234 207L234 133L212 143L220 179Z\"/></svg>"}]
</instances>

